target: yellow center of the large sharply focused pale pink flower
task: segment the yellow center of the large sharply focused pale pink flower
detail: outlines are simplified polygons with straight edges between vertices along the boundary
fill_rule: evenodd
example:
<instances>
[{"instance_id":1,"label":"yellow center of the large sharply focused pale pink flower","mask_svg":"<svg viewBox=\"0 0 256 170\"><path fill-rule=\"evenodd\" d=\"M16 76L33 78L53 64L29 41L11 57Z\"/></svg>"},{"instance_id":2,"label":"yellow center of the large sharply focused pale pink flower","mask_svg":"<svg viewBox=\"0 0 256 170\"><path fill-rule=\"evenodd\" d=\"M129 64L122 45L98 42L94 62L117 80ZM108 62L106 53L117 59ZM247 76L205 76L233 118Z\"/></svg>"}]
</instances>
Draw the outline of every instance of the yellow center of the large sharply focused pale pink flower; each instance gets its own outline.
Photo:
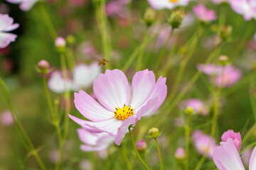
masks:
<instances>
[{"instance_id":1,"label":"yellow center of the large sharply focused pale pink flower","mask_svg":"<svg viewBox=\"0 0 256 170\"><path fill-rule=\"evenodd\" d=\"M131 106L124 106L122 108L115 108L116 111L113 111L114 113L114 118L116 118L117 120L126 120L127 118L129 118L130 116L132 116L134 114L134 109L131 108Z\"/></svg>"}]
</instances>

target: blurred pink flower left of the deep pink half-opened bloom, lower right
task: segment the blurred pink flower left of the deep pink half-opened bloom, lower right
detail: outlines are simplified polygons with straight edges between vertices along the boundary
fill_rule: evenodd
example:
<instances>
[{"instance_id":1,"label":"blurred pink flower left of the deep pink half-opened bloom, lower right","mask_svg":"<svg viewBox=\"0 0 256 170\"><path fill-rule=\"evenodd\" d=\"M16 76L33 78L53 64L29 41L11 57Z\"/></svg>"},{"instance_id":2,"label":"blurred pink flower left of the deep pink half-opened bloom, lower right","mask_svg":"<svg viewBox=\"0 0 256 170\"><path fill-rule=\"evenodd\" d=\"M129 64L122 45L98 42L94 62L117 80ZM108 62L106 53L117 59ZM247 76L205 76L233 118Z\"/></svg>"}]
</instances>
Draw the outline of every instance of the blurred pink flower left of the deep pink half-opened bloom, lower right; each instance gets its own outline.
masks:
<instances>
[{"instance_id":1,"label":"blurred pink flower left of the deep pink half-opened bloom, lower right","mask_svg":"<svg viewBox=\"0 0 256 170\"><path fill-rule=\"evenodd\" d=\"M207 154L209 159L213 158L213 149L217 147L215 139L204 134L201 130L196 130L192 135L193 145L200 154Z\"/></svg>"}]
</instances>

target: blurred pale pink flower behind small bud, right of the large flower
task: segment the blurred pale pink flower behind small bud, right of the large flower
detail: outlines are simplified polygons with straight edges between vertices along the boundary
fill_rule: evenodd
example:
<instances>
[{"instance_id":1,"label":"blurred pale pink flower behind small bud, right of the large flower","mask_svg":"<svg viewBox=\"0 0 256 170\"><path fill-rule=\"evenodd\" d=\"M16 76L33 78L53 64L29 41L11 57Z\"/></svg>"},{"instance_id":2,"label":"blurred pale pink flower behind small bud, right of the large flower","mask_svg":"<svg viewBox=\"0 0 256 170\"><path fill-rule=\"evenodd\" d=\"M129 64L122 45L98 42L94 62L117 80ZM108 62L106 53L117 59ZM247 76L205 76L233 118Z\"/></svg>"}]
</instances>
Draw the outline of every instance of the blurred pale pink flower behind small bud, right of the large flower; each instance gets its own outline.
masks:
<instances>
[{"instance_id":1,"label":"blurred pale pink flower behind small bud, right of the large flower","mask_svg":"<svg viewBox=\"0 0 256 170\"><path fill-rule=\"evenodd\" d=\"M193 111L196 113L199 113L201 115L207 115L208 114L208 108L203 103L203 101L199 100L198 98L191 98L187 101L181 102L179 105L180 108L186 109L187 107L193 108Z\"/></svg>"}]
</instances>

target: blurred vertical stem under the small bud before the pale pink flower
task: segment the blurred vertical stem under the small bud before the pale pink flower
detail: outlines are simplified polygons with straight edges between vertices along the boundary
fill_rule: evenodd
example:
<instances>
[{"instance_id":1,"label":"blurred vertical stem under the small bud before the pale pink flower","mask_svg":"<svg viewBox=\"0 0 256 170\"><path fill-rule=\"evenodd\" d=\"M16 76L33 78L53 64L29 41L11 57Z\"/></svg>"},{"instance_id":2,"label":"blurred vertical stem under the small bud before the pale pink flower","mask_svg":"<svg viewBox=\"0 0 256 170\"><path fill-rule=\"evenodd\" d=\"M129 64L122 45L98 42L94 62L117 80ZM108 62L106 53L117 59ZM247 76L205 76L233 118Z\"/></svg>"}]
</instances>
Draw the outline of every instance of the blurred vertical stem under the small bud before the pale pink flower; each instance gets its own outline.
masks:
<instances>
[{"instance_id":1,"label":"blurred vertical stem under the small bud before the pale pink flower","mask_svg":"<svg viewBox=\"0 0 256 170\"><path fill-rule=\"evenodd\" d=\"M191 128L190 128L190 119L191 115L188 115L188 118L186 119L186 125L184 127L185 129L185 137L186 137L186 161L185 161L185 169L188 170L188 158L189 158L189 145L190 145L190 134L191 134Z\"/></svg>"}]
</instances>

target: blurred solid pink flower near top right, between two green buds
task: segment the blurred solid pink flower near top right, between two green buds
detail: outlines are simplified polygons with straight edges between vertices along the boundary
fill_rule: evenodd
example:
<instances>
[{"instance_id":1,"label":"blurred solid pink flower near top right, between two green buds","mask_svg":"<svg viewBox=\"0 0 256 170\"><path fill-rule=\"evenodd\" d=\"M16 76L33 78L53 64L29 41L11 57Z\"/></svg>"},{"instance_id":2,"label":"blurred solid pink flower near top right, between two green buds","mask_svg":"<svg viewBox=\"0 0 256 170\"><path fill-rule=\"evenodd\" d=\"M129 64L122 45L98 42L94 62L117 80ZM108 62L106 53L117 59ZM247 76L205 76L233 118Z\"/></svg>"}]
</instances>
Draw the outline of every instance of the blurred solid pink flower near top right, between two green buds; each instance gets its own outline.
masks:
<instances>
[{"instance_id":1,"label":"blurred solid pink flower near top right, between two green buds","mask_svg":"<svg viewBox=\"0 0 256 170\"><path fill-rule=\"evenodd\" d=\"M208 8L206 8L206 6L204 6L203 4L194 6L193 12L196 14L197 18L203 22L214 21L217 19L215 11L208 10Z\"/></svg>"}]
</instances>

